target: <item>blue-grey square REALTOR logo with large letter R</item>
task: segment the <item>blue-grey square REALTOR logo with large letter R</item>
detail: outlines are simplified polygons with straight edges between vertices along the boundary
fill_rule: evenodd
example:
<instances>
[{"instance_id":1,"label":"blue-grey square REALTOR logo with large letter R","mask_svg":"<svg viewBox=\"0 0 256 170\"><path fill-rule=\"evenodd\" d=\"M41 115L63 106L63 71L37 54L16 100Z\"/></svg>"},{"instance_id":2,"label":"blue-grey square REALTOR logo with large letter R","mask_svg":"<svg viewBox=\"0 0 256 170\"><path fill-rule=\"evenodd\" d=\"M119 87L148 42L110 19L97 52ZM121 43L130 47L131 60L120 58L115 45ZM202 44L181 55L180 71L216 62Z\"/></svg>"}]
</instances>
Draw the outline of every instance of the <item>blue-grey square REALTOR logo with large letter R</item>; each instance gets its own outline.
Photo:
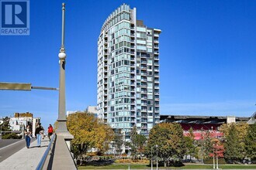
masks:
<instances>
[{"instance_id":1,"label":"blue-grey square REALTOR logo with large letter R","mask_svg":"<svg viewBox=\"0 0 256 170\"><path fill-rule=\"evenodd\" d=\"M1 35L29 35L29 0L1 1Z\"/></svg>"}]
</instances>

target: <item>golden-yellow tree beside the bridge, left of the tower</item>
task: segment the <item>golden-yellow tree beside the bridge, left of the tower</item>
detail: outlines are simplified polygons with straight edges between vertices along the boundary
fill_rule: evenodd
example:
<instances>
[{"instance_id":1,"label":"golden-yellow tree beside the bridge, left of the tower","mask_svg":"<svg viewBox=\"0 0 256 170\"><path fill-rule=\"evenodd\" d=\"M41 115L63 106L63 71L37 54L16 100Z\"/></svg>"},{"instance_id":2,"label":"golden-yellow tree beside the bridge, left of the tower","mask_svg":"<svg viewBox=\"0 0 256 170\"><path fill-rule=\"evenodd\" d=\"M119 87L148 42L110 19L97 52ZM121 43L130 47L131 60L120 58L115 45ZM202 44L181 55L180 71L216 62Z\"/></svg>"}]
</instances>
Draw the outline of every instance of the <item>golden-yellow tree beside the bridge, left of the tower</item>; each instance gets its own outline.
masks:
<instances>
[{"instance_id":1,"label":"golden-yellow tree beside the bridge, left of the tower","mask_svg":"<svg viewBox=\"0 0 256 170\"><path fill-rule=\"evenodd\" d=\"M114 136L109 125L101 123L93 114L86 112L68 116L67 129L74 135L71 142L77 157L85 155L90 148L97 148L99 154L107 151Z\"/></svg>"}]
</instances>

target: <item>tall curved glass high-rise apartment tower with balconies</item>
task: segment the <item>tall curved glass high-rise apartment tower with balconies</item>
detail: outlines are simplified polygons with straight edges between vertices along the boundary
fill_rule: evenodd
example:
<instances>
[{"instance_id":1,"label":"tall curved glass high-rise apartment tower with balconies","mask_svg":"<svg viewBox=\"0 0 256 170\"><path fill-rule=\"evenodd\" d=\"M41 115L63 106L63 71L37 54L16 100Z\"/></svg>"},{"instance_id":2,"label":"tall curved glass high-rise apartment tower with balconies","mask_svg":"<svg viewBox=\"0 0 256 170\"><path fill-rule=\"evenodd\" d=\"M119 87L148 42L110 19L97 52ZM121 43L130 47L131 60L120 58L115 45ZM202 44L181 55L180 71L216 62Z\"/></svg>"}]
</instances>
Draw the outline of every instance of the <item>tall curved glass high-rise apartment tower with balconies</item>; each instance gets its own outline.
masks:
<instances>
[{"instance_id":1,"label":"tall curved glass high-rise apartment tower with balconies","mask_svg":"<svg viewBox=\"0 0 256 170\"><path fill-rule=\"evenodd\" d=\"M159 115L159 34L123 4L104 22L98 39L98 117L127 132L148 134Z\"/></svg>"}]
</instances>

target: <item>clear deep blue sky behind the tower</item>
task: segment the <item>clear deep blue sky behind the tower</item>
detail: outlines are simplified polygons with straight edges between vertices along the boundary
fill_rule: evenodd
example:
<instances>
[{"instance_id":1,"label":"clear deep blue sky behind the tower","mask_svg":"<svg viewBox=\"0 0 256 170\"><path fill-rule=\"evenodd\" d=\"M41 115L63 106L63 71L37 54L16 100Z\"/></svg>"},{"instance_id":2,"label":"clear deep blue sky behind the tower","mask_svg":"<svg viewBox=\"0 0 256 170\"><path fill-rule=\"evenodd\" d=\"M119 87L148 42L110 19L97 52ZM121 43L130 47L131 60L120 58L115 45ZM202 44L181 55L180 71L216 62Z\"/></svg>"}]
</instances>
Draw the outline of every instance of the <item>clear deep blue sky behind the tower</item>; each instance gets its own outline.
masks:
<instances>
[{"instance_id":1,"label":"clear deep blue sky behind the tower","mask_svg":"<svg viewBox=\"0 0 256 170\"><path fill-rule=\"evenodd\" d=\"M58 87L61 3L30 1L30 35L0 36L0 81ZM97 39L119 5L161 29L161 114L251 116L256 110L256 1L66 1L67 110L97 103ZM57 120L58 92L0 90L0 116Z\"/></svg>"}]
</instances>

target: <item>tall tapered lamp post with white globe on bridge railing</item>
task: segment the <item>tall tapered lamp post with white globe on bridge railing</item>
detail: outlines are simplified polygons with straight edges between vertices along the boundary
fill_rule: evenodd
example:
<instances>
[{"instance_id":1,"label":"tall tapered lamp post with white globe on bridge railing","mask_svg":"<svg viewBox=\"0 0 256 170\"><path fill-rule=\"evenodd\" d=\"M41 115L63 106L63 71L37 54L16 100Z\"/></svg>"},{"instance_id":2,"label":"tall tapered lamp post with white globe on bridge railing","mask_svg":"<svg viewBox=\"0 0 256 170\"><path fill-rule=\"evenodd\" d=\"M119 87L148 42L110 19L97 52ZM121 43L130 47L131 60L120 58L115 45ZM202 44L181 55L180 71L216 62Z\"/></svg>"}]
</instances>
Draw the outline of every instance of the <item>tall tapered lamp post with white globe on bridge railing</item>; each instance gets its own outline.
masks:
<instances>
[{"instance_id":1,"label":"tall tapered lamp post with white globe on bridge railing","mask_svg":"<svg viewBox=\"0 0 256 170\"><path fill-rule=\"evenodd\" d=\"M56 134L64 136L65 140L73 139L73 135L67 131L67 117L66 117L66 97L65 97L65 64L66 53L64 47L64 25L65 25L65 3L62 3L62 34L61 34L61 49L59 53L60 63L60 82L59 82L59 107L57 118Z\"/></svg>"}]
</instances>

